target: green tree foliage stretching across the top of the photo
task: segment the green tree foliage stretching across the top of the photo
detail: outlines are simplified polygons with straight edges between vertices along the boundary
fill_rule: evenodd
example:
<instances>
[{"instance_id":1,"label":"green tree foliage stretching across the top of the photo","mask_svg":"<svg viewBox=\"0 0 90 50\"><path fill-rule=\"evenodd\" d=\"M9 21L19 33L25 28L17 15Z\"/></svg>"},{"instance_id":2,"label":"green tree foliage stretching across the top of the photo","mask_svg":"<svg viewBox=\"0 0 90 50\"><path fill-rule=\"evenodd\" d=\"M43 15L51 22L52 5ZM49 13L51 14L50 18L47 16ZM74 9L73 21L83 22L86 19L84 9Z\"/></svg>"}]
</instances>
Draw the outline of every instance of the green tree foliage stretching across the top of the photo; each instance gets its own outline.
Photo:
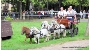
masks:
<instances>
[{"instance_id":1,"label":"green tree foliage stretching across the top of the photo","mask_svg":"<svg viewBox=\"0 0 90 50\"><path fill-rule=\"evenodd\" d=\"M1 2L5 2L6 0L1 0ZM25 3L25 7L27 6L27 3L32 3L35 7L35 9L43 9L44 7L47 7L46 5L48 5L48 3L50 5L54 5L54 4L59 4L60 5L64 5L64 6L69 6L69 5L73 5L73 6L79 6L79 8L81 9L81 7L88 7L89 6L89 0L28 0L29 2L26 2L27 0L7 0L8 2L11 2L11 4L15 5L14 10L16 10L15 8L17 8L17 3L22 1L23 3ZM62 4L61 4L62 3ZM50 6L48 5L48 6ZM24 6L24 5L23 5ZM29 7L29 5L27 6ZM18 9L18 8L17 8ZM24 9L24 8L22 8ZM19 10L18 10L19 11Z\"/></svg>"}]
</instances>

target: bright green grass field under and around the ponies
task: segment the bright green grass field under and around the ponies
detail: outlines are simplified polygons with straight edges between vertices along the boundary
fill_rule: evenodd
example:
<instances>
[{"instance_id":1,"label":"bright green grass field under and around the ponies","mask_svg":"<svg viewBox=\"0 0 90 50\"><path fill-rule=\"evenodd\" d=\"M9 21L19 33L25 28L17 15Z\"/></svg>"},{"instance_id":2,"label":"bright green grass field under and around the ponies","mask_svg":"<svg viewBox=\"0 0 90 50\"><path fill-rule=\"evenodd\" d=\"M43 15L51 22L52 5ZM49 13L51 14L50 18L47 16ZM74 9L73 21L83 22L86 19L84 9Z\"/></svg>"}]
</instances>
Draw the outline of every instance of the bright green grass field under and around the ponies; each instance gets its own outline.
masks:
<instances>
[{"instance_id":1,"label":"bright green grass field under and around the ponies","mask_svg":"<svg viewBox=\"0 0 90 50\"><path fill-rule=\"evenodd\" d=\"M11 22L12 30L13 30L13 36L9 40L1 41L1 49L2 50L27 50L29 48L38 48L43 46L49 46L51 44L61 44L68 41L74 41L74 40L84 40L89 39L88 36L84 36L85 29L87 23L79 23L77 26L79 27L79 33L75 37L66 36L65 38L56 39L56 40L50 40L48 42L43 42L43 39L41 39L40 44L30 44L30 39L27 39L26 43L24 42L25 35L21 35L21 28L22 26L26 27L32 27L35 26L37 28L41 28L41 22ZM34 41L33 41L34 42Z\"/></svg>"}]
</instances>

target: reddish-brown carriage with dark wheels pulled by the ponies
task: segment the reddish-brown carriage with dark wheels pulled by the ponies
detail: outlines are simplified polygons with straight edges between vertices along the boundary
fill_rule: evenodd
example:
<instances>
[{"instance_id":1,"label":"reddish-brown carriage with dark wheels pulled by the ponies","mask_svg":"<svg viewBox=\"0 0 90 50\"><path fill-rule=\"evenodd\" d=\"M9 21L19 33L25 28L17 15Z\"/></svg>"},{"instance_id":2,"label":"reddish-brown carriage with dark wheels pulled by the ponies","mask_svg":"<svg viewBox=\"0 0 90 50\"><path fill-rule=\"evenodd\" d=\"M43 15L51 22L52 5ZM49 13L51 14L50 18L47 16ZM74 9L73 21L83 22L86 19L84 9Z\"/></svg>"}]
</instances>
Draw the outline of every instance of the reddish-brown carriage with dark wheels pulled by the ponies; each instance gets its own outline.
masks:
<instances>
[{"instance_id":1,"label":"reddish-brown carriage with dark wheels pulled by the ponies","mask_svg":"<svg viewBox=\"0 0 90 50\"><path fill-rule=\"evenodd\" d=\"M72 18L72 19L70 19ZM77 20L74 20L73 16L67 16L62 18L57 18L56 20L59 24L63 24L66 27L68 33L70 33L71 37L78 34L77 24L79 23Z\"/></svg>"}]
</instances>

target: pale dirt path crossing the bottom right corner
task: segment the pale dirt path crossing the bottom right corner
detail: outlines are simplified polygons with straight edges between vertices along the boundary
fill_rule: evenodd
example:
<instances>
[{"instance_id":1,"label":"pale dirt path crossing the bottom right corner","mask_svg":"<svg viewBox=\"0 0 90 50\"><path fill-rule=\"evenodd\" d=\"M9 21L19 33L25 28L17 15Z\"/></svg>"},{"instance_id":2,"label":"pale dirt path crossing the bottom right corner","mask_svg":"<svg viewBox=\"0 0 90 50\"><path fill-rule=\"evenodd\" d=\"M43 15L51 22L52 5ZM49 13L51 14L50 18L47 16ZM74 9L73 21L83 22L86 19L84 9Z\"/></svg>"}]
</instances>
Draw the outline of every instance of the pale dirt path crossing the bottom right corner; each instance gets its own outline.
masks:
<instances>
[{"instance_id":1,"label":"pale dirt path crossing the bottom right corner","mask_svg":"<svg viewBox=\"0 0 90 50\"><path fill-rule=\"evenodd\" d=\"M63 44L51 45L48 47L29 49L29 50L76 50L89 46L89 40L71 41Z\"/></svg>"}]
</instances>

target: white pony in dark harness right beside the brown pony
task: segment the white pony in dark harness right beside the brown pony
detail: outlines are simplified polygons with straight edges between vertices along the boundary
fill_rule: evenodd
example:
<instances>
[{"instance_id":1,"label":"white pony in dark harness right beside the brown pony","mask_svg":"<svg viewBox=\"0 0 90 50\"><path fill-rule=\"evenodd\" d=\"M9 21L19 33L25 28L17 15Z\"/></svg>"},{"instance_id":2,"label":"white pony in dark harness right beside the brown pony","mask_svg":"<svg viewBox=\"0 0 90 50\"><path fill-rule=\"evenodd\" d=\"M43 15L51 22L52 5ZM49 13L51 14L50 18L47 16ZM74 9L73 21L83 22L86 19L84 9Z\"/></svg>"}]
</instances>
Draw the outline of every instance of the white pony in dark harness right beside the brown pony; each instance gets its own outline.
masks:
<instances>
[{"instance_id":1,"label":"white pony in dark harness right beside the brown pony","mask_svg":"<svg viewBox=\"0 0 90 50\"><path fill-rule=\"evenodd\" d=\"M32 31L30 32L30 34L34 35L34 41L37 44L39 44L39 39L43 38L43 37L45 37L45 41L44 42L49 41L50 35L49 35L47 29L38 30L36 27L32 27L31 30Z\"/></svg>"}]
</instances>

